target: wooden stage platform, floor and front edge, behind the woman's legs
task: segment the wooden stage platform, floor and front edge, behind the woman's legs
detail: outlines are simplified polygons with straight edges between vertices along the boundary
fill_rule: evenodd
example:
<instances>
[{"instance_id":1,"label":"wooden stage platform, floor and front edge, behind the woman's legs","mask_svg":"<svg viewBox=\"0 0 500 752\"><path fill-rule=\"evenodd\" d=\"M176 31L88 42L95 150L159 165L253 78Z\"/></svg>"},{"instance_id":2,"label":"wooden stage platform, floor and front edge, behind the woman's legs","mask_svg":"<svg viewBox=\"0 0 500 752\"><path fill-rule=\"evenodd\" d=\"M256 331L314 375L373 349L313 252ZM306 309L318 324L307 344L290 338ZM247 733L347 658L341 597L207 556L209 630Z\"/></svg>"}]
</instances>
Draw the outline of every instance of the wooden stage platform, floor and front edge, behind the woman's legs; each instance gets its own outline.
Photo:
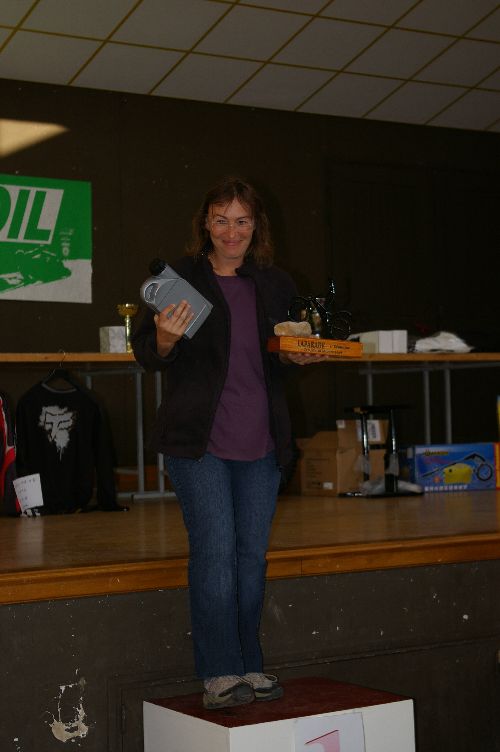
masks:
<instances>
[{"instance_id":1,"label":"wooden stage platform, floor and front edge, behind the woman's legs","mask_svg":"<svg viewBox=\"0 0 500 752\"><path fill-rule=\"evenodd\" d=\"M0 518L0 603L187 585L175 499L129 512ZM268 578L500 558L500 492L341 499L280 497Z\"/></svg>"}]
</instances>

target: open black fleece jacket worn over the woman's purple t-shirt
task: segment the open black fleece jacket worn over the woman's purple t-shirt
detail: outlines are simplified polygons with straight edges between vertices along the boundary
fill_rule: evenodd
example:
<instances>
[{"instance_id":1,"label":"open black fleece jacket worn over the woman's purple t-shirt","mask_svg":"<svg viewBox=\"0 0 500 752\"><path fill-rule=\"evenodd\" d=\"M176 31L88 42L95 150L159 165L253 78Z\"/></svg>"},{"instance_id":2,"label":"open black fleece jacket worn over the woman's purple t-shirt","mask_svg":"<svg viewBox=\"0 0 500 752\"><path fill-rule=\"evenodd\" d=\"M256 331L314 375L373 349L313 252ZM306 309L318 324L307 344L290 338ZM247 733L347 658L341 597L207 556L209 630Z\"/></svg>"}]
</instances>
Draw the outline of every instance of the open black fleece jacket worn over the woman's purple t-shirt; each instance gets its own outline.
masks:
<instances>
[{"instance_id":1,"label":"open black fleece jacket worn over the woman's purple t-shirt","mask_svg":"<svg viewBox=\"0 0 500 752\"><path fill-rule=\"evenodd\" d=\"M166 358L156 351L154 314L146 309L133 334L132 346L137 362L147 371L167 372L155 425L154 448L174 457L198 458L206 452L226 379L231 318L205 255L185 256L170 266L204 295L213 309L192 339L179 340ZM255 283L271 435L278 465L285 467L292 459L290 418L283 389L283 377L289 366L283 365L277 354L268 353L266 343L274 333L274 325L287 320L296 288L291 277L275 266L261 269L249 260L237 273L251 277Z\"/></svg>"}]
</instances>

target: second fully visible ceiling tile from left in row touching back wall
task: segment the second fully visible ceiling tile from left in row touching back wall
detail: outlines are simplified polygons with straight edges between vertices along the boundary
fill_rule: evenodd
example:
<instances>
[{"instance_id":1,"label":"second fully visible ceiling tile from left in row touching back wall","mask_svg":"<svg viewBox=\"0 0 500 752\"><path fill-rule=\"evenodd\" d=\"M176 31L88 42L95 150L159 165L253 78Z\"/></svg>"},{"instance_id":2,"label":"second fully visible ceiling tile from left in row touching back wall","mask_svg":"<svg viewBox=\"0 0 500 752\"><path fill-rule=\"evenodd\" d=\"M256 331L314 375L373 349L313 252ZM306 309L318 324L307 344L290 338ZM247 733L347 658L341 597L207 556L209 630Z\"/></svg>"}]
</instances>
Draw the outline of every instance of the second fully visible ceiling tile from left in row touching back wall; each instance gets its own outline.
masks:
<instances>
[{"instance_id":1,"label":"second fully visible ceiling tile from left in row touching back wall","mask_svg":"<svg viewBox=\"0 0 500 752\"><path fill-rule=\"evenodd\" d=\"M154 94L178 99L224 102L259 65L260 63L248 60L190 54L154 90Z\"/></svg>"}]
</instances>

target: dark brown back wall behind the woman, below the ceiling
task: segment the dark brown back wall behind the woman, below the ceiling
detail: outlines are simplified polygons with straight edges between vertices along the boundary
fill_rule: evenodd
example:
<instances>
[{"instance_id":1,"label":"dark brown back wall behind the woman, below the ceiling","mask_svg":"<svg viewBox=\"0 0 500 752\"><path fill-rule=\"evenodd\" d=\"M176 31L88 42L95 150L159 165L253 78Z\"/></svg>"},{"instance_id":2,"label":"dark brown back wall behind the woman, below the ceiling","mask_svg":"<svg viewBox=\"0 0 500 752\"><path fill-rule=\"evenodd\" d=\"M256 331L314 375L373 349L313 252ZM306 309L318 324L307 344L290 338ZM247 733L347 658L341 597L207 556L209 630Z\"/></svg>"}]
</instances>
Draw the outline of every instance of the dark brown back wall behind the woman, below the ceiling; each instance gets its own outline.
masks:
<instances>
[{"instance_id":1,"label":"dark brown back wall behind the woman, below the ceiling","mask_svg":"<svg viewBox=\"0 0 500 752\"><path fill-rule=\"evenodd\" d=\"M498 134L6 80L0 102L2 117L68 128L0 159L0 171L90 181L94 226L92 305L0 300L0 350L98 350L99 327L121 323L116 303L137 300L152 257L182 254L205 189L229 172L263 193L277 262L304 293L321 293L333 274L355 330L447 328L500 350ZM15 401L44 373L4 369L0 388ZM377 396L414 406L402 418L414 442L423 440L419 384L391 378ZM454 377L459 404L475 395L474 409L457 413L456 440L496 438L496 384L496 371ZM119 464L131 464L132 383L106 378L96 389ZM298 436L332 428L360 401L363 381L346 369L302 369L290 384ZM441 418L438 406L439 441Z\"/></svg>"}]
</instances>

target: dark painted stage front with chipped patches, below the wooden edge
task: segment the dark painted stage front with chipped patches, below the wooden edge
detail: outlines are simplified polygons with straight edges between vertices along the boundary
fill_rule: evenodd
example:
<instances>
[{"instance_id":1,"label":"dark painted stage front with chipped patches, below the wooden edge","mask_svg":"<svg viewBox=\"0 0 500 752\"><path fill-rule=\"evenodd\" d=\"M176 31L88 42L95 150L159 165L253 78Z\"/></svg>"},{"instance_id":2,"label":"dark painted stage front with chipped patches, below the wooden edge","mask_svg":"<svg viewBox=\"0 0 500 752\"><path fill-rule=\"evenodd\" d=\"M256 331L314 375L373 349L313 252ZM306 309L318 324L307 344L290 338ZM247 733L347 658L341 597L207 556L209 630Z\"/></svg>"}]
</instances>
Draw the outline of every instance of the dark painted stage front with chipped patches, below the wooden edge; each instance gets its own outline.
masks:
<instances>
[{"instance_id":1,"label":"dark painted stage front with chipped patches, below the wooden edge","mask_svg":"<svg viewBox=\"0 0 500 752\"><path fill-rule=\"evenodd\" d=\"M494 561L270 581L266 668L413 698L417 752L498 752L499 577ZM140 752L142 701L201 691L185 589L1 606L0 641L2 751L59 748L51 724L81 703L68 745Z\"/></svg>"}]
</instances>

